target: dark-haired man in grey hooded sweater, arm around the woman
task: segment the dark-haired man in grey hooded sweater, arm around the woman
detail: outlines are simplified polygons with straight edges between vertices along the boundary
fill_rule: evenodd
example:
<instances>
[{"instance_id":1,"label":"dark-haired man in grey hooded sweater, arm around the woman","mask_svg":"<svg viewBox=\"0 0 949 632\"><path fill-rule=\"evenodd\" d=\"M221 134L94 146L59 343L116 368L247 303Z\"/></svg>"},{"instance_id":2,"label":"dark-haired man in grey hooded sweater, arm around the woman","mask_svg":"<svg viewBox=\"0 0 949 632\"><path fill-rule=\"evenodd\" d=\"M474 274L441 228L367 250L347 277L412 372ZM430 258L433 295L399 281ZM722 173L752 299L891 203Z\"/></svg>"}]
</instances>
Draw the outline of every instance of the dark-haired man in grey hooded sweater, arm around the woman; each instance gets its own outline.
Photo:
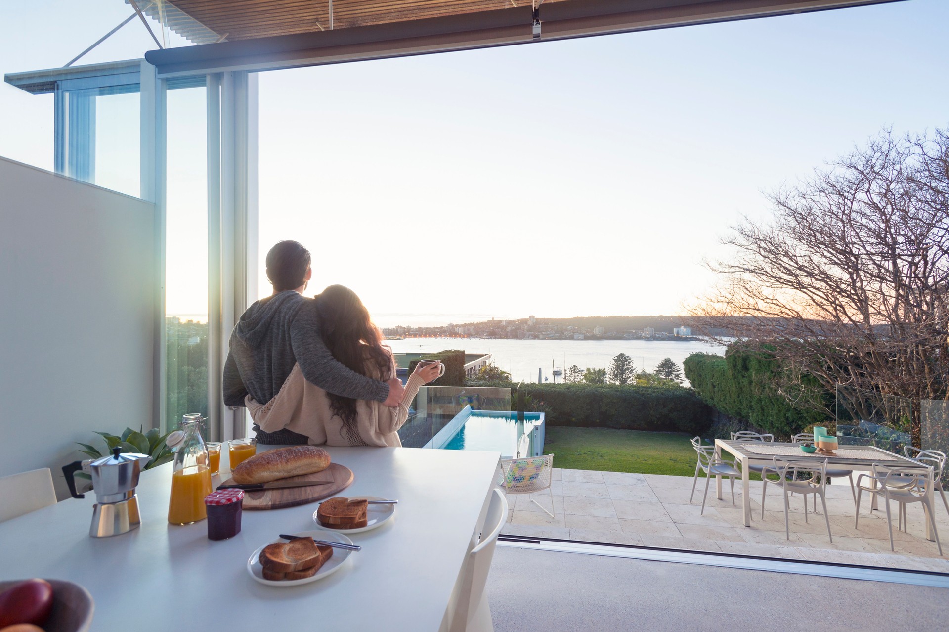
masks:
<instances>
[{"instance_id":1,"label":"dark-haired man in grey hooded sweater, arm around the woman","mask_svg":"<svg viewBox=\"0 0 949 632\"><path fill-rule=\"evenodd\" d=\"M401 381L375 381L351 371L323 344L313 299L303 295L313 275L309 264L309 251L295 241L281 241L267 253L273 293L248 307L234 326L224 364L224 403L243 406L247 395L270 401L299 363L307 381L330 393L398 406ZM260 443L307 443L307 437L288 430L265 433L256 424L253 429Z\"/></svg>"}]
</instances>

